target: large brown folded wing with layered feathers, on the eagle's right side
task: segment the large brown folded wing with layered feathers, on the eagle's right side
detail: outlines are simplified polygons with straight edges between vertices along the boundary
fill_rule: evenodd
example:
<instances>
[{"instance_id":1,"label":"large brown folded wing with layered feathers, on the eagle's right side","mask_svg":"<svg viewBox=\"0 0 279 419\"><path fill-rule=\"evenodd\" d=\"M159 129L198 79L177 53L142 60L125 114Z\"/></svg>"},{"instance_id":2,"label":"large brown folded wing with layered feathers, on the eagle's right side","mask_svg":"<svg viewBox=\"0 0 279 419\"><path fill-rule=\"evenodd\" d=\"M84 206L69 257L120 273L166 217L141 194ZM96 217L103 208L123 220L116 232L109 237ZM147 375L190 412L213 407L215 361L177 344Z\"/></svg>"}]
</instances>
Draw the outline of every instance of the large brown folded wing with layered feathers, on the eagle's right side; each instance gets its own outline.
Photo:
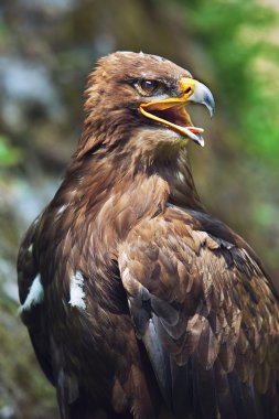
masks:
<instances>
[{"instance_id":1,"label":"large brown folded wing with layered feathers, on the eagle's right side","mask_svg":"<svg viewBox=\"0 0 279 419\"><path fill-rule=\"evenodd\" d=\"M278 418L279 304L249 247L169 207L120 248L139 339L175 418Z\"/></svg>"}]
</instances>

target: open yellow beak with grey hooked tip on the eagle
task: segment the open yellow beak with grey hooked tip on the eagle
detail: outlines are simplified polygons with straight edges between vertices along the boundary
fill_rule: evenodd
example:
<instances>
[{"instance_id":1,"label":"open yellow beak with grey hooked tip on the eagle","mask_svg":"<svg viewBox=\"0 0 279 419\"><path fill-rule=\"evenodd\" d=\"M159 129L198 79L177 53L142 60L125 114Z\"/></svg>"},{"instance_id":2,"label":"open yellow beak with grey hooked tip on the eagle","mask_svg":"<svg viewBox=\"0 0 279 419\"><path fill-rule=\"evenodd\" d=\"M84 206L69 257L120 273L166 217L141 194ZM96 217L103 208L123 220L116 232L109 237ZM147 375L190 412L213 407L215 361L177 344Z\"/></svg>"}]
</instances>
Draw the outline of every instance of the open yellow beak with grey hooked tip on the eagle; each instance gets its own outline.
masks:
<instances>
[{"instance_id":1,"label":"open yellow beak with grey hooked tip on the eagle","mask_svg":"<svg viewBox=\"0 0 279 419\"><path fill-rule=\"evenodd\" d=\"M201 133L204 130L193 126L185 106L190 103L205 105L212 117L215 110L214 98L204 84L190 77L180 79L180 88L182 92L180 97L141 104L139 110L144 117L163 123L203 147L204 139Z\"/></svg>"}]
</instances>

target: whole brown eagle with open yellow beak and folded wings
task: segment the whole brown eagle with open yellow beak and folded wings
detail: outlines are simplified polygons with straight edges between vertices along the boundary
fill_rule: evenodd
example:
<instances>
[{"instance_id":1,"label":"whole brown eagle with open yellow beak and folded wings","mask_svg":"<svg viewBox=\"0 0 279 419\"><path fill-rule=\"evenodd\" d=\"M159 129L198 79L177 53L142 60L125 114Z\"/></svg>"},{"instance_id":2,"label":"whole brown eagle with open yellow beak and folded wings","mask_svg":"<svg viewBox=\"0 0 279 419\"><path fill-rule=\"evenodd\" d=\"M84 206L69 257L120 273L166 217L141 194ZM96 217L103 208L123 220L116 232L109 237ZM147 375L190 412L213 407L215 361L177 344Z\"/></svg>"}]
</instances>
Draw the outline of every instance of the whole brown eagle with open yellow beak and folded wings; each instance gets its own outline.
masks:
<instances>
[{"instance_id":1,"label":"whole brown eagle with open yellow beak and folded wings","mask_svg":"<svg viewBox=\"0 0 279 419\"><path fill-rule=\"evenodd\" d=\"M18 258L62 419L279 418L278 294L200 200L191 103L214 112L204 84L155 55L116 52L88 77L77 150Z\"/></svg>"}]
</instances>

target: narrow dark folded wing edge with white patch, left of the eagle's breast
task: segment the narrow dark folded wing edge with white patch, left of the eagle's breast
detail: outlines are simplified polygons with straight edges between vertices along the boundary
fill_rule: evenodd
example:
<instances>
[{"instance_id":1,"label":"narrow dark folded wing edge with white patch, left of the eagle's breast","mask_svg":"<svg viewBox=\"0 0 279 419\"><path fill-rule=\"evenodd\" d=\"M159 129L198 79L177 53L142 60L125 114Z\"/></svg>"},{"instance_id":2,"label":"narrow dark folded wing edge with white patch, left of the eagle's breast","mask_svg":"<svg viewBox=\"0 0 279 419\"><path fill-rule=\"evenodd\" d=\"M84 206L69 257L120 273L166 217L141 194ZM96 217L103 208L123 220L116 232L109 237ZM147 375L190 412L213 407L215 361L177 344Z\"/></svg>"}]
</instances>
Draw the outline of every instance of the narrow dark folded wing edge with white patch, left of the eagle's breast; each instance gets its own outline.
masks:
<instances>
[{"instance_id":1,"label":"narrow dark folded wing edge with white patch, left of the eagle's breast","mask_svg":"<svg viewBox=\"0 0 279 419\"><path fill-rule=\"evenodd\" d=\"M18 283L21 319L47 379L56 387L61 417L63 419L87 417L86 399L83 399L75 377L64 368L63 352L52 337L47 323L45 289L41 282L36 261L36 236L40 217L34 221L23 238L18 257Z\"/></svg>"}]
</instances>

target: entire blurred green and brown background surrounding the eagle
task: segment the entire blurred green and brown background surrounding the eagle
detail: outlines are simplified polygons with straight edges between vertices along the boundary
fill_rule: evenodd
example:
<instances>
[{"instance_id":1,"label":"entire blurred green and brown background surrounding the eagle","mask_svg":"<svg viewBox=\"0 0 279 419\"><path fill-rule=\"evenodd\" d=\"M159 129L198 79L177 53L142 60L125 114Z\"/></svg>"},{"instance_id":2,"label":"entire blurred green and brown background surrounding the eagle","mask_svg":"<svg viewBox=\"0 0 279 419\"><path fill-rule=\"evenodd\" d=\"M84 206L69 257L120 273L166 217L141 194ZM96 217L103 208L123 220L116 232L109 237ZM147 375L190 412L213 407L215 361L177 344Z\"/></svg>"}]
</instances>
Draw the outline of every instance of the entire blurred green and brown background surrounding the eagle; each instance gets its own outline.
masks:
<instances>
[{"instance_id":1,"label":"entire blurred green and brown background surrounding the eagle","mask_svg":"<svg viewBox=\"0 0 279 419\"><path fill-rule=\"evenodd\" d=\"M15 259L75 150L100 55L162 55L211 88L215 118L193 117L206 128L190 150L197 189L279 282L278 49L278 0L1 0L0 419L57 418L17 314Z\"/></svg>"}]
</instances>

